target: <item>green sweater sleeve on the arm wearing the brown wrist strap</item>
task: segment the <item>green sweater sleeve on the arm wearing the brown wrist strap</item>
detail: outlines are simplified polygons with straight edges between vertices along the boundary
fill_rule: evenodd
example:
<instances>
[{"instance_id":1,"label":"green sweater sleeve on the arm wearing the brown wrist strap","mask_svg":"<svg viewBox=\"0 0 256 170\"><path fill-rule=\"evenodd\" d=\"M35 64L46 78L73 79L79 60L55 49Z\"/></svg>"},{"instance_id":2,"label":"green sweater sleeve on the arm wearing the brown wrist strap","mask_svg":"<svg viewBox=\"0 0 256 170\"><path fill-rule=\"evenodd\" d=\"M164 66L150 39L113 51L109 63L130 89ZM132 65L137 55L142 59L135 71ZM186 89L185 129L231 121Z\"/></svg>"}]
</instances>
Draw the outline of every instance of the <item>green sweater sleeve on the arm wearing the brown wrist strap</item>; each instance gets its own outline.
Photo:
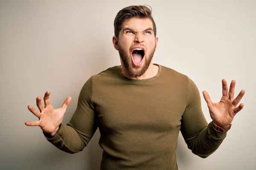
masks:
<instances>
[{"instance_id":1,"label":"green sweater sleeve on the arm wearing the brown wrist strap","mask_svg":"<svg viewBox=\"0 0 256 170\"><path fill-rule=\"evenodd\" d=\"M218 149L227 132L220 133L209 124L201 108L201 97L195 83L188 78L188 100L181 118L180 131L192 153L206 158Z\"/></svg>"}]
</instances>

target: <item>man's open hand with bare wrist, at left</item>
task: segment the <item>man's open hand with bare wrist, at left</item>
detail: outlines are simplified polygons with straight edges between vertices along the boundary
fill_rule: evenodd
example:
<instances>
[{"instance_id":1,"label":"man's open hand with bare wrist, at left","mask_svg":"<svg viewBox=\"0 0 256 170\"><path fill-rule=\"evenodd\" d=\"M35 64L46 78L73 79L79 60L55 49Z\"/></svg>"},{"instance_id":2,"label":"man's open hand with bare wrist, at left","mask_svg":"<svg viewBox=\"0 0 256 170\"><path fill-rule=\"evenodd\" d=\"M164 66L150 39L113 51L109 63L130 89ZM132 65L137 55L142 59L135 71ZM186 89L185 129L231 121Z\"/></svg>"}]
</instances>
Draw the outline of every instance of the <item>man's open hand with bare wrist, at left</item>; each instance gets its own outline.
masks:
<instances>
[{"instance_id":1,"label":"man's open hand with bare wrist, at left","mask_svg":"<svg viewBox=\"0 0 256 170\"><path fill-rule=\"evenodd\" d=\"M40 96L36 98L36 105L38 106L39 111L31 105L28 106L29 111L37 116L39 120L35 122L25 122L25 125L39 126L45 133L48 133L50 136L53 137L58 132L59 125L63 120L63 116L66 112L67 106L71 102L71 97L67 97L61 108L54 109L50 104L49 96L50 92L47 91L44 94L44 105Z\"/></svg>"}]
</instances>

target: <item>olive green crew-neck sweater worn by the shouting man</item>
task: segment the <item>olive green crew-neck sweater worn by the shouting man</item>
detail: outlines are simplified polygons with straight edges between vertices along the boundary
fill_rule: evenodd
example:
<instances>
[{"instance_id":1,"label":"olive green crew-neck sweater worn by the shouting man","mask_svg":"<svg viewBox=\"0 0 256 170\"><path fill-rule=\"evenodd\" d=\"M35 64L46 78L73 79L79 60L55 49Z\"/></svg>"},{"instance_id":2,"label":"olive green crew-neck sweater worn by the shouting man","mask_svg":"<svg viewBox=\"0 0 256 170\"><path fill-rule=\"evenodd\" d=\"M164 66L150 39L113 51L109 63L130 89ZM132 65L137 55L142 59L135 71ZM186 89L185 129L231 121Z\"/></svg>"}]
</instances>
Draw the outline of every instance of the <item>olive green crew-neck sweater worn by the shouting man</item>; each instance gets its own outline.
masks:
<instances>
[{"instance_id":1,"label":"olive green crew-neck sweater worn by the shouting man","mask_svg":"<svg viewBox=\"0 0 256 170\"><path fill-rule=\"evenodd\" d=\"M155 77L143 80L124 77L120 66L93 75L81 89L70 122L47 140L77 153L99 127L101 170L177 170L179 131L192 153L209 156L226 132L208 125L189 77L158 66Z\"/></svg>"}]
</instances>

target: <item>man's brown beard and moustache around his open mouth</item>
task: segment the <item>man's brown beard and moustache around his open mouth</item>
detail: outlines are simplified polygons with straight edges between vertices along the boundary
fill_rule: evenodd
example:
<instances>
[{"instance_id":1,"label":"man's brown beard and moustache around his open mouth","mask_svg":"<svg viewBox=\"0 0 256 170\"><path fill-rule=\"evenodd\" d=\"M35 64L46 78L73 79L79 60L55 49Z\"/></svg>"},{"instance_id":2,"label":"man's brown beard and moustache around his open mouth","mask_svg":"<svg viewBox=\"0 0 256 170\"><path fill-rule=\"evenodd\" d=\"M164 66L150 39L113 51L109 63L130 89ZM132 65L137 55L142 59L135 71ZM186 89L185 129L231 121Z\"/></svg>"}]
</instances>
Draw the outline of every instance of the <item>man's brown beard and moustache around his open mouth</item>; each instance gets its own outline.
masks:
<instances>
[{"instance_id":1,"label":"man's brown beard and moustache around his open mouth","mask_svg":"<svg viewBox=\"0 0 256 170\"><path fill-rule=\"evenodd\" d=\"M156 45L155 45L155 48L156 48ZM146 56L145 54L145 61L144 61L144 65L142 68L134 68L133 67L133 64L132 64L132 60L131 60L131 57L130 55L127 55L126 51L121 47L121 45L118 43L118 49L119 49L119 56L120 58L122 59L122 62L126 68L126 70L128 71L128 75L131 76L131 77L140 77L142 76L148 69L150 63L151 63L151 60L154 56L154 51L155 51L155 48L152 49L149 53L148 56ZM132 50L132 48L130 48L129 52Z\"/></svg>"}]
</instances>

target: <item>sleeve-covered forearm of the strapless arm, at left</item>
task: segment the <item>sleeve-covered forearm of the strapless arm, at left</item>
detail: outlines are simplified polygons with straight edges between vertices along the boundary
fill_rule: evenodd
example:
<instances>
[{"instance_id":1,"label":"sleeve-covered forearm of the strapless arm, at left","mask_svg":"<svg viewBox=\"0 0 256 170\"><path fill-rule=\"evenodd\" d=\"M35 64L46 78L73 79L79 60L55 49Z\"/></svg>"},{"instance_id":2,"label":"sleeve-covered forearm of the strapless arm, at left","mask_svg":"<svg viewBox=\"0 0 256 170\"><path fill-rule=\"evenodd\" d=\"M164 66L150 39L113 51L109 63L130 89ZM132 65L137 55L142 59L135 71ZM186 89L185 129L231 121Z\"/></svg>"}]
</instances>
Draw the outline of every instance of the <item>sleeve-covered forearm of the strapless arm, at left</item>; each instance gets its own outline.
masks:
<instances>
[{"instance_id":1,"label":"sleeve-covered forearm of the strapless arm, at left","mask_svg":"<svg viewBox=\"0 0 256 170\"><path fill-rule=\"evenodd\" d=\"M69 125L61 124L58 133L54 137L46 133L44 133L44 136L55 147L67 153L78 153L85 147L79 134Z\"/></svg>"}]
</instances>

